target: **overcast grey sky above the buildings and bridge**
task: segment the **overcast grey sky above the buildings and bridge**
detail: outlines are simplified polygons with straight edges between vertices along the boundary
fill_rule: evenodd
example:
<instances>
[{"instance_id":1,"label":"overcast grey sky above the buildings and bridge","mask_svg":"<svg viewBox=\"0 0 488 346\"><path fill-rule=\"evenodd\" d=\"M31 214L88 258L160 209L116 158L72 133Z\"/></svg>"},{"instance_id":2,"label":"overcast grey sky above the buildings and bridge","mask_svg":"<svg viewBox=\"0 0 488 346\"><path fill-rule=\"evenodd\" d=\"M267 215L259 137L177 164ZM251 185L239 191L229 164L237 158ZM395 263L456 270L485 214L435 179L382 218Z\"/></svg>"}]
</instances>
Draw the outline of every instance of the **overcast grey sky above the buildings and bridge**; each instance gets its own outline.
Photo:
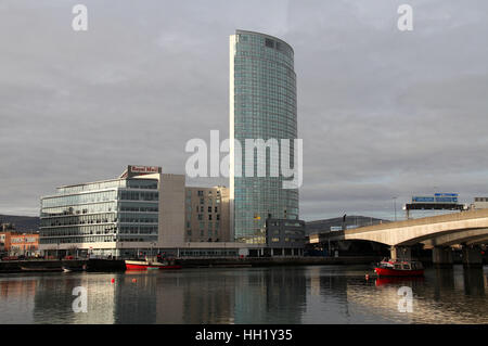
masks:
<instances>
[{"instance_id":1,"label":"overcast grey sky above the buildings and bridge","mask_svg":"<svg viewBox=\"0 0 488 346\"><path fill-rule=\"evenodd\" d=\"M184 174L188 140L229 134L237 28L295 50L300 218L488 196L486 0L1 0L0 214L38 215L56 187L128 164Z\"/></svg>"}]
</instances>

